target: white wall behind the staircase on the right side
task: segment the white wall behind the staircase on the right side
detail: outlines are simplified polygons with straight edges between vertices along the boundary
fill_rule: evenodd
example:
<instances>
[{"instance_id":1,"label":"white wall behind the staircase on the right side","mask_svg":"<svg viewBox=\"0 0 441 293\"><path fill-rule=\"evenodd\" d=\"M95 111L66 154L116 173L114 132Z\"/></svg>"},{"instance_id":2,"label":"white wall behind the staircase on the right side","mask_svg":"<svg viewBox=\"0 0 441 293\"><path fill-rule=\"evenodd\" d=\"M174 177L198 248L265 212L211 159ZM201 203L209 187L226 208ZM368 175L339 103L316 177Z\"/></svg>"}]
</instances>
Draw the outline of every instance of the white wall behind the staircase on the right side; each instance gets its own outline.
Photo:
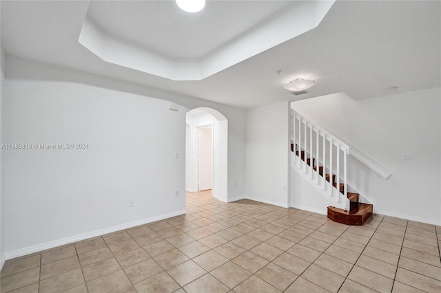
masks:
<instances>
[{"instance_id":1,"label":"white wall behind the staircase on the right side","mask_svg":"<svg viewBox=\"0 0 441 293\"><path fill-rule=\"evenodd\" d=\"M392 173L384 180L349 156L349 180L376 213L441 224L440 96L440 88L358 101L333 94L291 107Z\"/></svg>"}]
</instances>

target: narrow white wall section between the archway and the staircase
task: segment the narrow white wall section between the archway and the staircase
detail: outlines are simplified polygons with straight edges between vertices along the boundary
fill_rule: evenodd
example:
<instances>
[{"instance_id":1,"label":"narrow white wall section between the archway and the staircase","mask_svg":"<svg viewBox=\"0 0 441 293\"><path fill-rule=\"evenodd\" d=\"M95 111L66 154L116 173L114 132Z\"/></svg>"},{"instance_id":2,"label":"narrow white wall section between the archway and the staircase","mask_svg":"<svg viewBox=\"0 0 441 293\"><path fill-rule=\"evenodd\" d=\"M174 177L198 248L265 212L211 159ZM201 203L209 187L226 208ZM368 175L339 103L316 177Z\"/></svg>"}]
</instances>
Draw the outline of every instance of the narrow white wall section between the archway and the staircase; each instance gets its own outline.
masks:
<instances>
[{"instance_id":1,"label":"narrow white wall section between the archway and the staircase","mask_svg":"<svg viewBox=\"0 0 441 293\"><path fill-rule=\"evenodd\" d=\"M247 110L247 198L288 206L289 102Z\"/></svg>"}]
</instances>

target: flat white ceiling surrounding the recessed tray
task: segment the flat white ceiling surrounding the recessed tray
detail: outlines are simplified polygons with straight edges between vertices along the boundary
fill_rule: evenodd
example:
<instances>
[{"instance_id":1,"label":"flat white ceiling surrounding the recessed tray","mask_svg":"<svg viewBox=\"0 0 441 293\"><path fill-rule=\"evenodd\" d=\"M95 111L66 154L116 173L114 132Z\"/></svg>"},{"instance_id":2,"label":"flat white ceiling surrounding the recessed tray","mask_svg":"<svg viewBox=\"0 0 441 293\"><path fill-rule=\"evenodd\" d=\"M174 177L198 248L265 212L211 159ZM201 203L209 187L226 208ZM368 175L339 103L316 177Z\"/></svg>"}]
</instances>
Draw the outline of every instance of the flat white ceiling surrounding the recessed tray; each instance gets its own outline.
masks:
<instances>
[{"instance_id":1,"label":"flat white ceiling surrounding the recessed tray","mask_svg":"<svg viewBox=\"0 0 441 293\"><path fill-rule=\"evenodd\" d=\"M99 2L105 2L104 7L111 6L113 1ZM164 11L156 14L155 1L145 1L142 4L139 1L124 2L124 6L152 6L151 10L145 12L149 20L143 21L143 25L155 23L151 34L155 34L157 28L167 28L169 32L179 34L178 20L182 15L167 17ZM255 2L252 5L260 7L261 4L262 10L265 10L267 2ZM280 9L284 4L280 3ZM88 11L88 1L2 0L1 46L7 56L17 56L237 107L256 107L340 91L345 91L352 98L362 99L441 86L440 4L440 1L337 1L314 30L199 81L174 81L106 63L85 49L78 40ZM231 8L226 10L223 5ZM254 10L241 10L238 13L239 7L243 5L243 1L216 1L216 6L212 6L214 11L206 12L210 8L207 5L205 10L198 13L219 13L220 19L227 20L231 14L234 22L227 21L223 25L228 31L225 34L228 33L231 37L235 34L234 27L238 19L243 19L247 25L259 17L265 19L264 13L259 9L258 15L254 15ZM172 3L170 6L174 7ZM277 11L276 6L271 7L274 12ZM134 10L138 12L139 9ZM103 18L112 17L111 13L114 14L115 11L108 12L107 15L106 10L101 10L99 14L105 14ZM135 25L135 20L142 18L142 14L132 15L134 12L122 11L121 8L126 19L133 16L134 20L130 23L126 21L124 25ZM270 15L268 12L267 17ZM113 18L112 25L118 26L118 17ZM205 28L207 21L212 21L212 18L204 20L201 17L197 23ZM247 26L241 25L242 29ZM115 30L114 34L119 32ZM139 34L127 37L143 46L157 44L155 50L161 50L164 54L176 54L176 44L167 49L170 34L162 33L152 37L158 40L157 43L136 39ZM207 47L198 54L203 54L204 50L213 50L207 48L219 43L216 35L207 34L205 39L210 36L214 40L207 41ZM191 44L186 39L181 40L181 43L185 43L181 47L186 48L182 54L186 50L187 53L191 51L188 49ZM280 75L276 73L278 69L282 69ZM6 77L8 78L8 71ZM313 78L316 86L309 90L309 94L295 97L283 89L283 84L294 78ZM386 91L391 86L397 86L398 89Z\"/></svg>"}]
</instances>

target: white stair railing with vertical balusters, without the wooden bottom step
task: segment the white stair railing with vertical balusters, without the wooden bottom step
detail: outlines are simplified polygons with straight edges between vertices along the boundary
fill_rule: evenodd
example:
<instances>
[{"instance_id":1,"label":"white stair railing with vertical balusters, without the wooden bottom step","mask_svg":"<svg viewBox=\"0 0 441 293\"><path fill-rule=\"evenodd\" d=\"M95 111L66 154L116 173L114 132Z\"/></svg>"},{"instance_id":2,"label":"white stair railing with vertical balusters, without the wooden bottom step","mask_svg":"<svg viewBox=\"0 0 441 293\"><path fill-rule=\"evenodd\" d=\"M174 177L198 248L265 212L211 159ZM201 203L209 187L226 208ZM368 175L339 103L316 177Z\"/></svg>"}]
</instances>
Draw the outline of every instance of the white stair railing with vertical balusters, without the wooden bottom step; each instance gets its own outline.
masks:
<instances>
[{"instance_id":1,"label":"white stair railing with vertical balusters, without the wooden bottom step","mask_svg":"<svg viewBox=\"0 0 441 293\"><path fill-rule=\"evenodd\" d=\"M294 166L299 173L305 173L305 177L320 186L321 193L329 202L333 202L334 206L339 208L347 209L349 145L300 113L292 110L291 116Z\"/></svg>"}]
</instances>

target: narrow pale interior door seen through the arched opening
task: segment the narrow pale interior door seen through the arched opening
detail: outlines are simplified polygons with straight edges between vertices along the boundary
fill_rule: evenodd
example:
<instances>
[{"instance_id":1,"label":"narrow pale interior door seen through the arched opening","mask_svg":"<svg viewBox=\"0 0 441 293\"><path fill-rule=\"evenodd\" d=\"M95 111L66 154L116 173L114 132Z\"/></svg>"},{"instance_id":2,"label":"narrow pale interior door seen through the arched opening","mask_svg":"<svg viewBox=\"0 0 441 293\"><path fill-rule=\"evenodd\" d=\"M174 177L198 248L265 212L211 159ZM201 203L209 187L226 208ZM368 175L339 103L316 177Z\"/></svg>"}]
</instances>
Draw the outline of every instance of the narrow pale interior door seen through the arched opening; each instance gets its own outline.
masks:
<instances>
[{"instance_id":1,"label":"narrow pale interior door seen through the arched opening","mask_svg":"<svg viewBox=\"0 0 441 293\"><path fill-rule=\"evenodd\" d=\"M213 187L212 125L198 127L198 191Z\"/></svg>"}]
</instances>

